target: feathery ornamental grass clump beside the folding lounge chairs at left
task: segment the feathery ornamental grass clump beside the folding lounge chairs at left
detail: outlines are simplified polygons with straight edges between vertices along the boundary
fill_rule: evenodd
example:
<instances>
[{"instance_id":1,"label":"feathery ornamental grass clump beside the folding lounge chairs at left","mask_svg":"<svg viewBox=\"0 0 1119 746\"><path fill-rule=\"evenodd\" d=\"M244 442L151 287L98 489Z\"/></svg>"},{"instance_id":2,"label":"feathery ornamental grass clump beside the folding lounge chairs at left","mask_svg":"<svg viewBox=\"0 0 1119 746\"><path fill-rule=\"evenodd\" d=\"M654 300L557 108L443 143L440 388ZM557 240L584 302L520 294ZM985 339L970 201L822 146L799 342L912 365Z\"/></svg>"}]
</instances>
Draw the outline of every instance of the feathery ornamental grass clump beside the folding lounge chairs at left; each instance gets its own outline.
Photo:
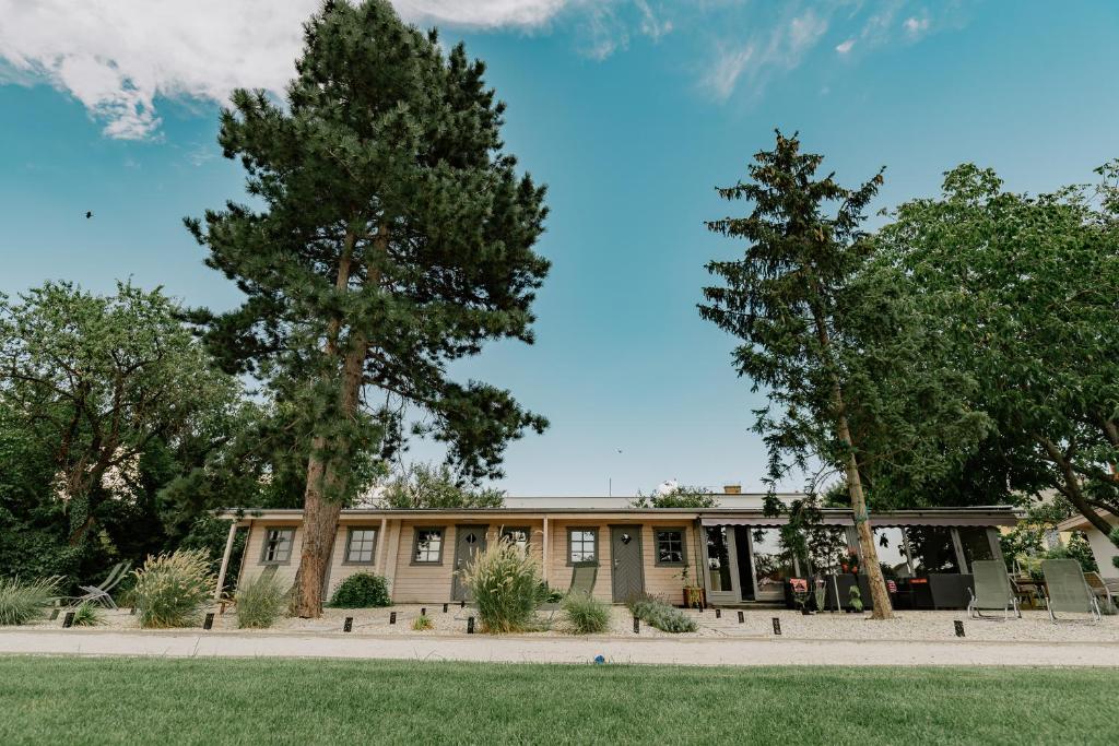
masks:
<instances>
[{"instance_id":1,"label":"feathery ornamental grass clump beside the folding lounge chairs at left","mask_svg":"<svg viewBox=\"0 0 1119 746\"><path fill-rule=\"evenodd\" d=\"M132 595L142 627L196 625L216 583L205 549L149 555L143 569L134 575Z\"/></svg>"}]
</instances>

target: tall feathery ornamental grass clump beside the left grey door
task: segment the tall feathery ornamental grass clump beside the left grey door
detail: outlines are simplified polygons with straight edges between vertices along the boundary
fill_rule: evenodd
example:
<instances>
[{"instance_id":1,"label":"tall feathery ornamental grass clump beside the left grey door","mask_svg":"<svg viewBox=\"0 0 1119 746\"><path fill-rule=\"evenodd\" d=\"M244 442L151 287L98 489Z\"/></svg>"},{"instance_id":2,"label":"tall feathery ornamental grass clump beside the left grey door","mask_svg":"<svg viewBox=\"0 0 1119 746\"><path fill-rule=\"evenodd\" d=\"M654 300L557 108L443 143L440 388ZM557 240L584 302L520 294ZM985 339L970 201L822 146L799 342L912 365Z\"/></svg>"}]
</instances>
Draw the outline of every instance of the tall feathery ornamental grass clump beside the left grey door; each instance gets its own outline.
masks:
<instances>
[{"instance_id":1,"label":"tall feathery ornamental grass clump beside the left grey door","mask_svg":"<svg viewBox=\"0 0 1119 746\"><path fill-rule=\"evenodd\" d=\"M502 537L461 570L473 594L483 632L524 632L538 626L539 576L536 561Z\"/></svg>"}]
</instances>

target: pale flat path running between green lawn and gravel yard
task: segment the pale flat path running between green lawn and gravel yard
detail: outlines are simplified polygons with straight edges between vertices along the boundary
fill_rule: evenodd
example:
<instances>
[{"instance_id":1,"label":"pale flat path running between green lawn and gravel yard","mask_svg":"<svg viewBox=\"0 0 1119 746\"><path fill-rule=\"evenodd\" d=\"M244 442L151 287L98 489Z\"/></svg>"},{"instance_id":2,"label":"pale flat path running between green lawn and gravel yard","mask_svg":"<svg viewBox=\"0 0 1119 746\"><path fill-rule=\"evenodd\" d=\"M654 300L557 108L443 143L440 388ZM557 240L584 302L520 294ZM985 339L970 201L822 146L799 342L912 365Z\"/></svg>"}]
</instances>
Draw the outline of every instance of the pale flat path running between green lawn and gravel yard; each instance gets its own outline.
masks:
<instances>
[{"instance_id":1,"label":"pale flat path running between green lawn and gravel yard","mask_svg":"<svg viewBox=\"0 0 1119 746\"><path fill-rule=\"evenodd\" d=\"M415 638L228 632L0 632L0 653L169 658L350 658L696 665L1119 667L1119 643L835 640L627 640L488 635Z\"/></svg>"}]
</instances>

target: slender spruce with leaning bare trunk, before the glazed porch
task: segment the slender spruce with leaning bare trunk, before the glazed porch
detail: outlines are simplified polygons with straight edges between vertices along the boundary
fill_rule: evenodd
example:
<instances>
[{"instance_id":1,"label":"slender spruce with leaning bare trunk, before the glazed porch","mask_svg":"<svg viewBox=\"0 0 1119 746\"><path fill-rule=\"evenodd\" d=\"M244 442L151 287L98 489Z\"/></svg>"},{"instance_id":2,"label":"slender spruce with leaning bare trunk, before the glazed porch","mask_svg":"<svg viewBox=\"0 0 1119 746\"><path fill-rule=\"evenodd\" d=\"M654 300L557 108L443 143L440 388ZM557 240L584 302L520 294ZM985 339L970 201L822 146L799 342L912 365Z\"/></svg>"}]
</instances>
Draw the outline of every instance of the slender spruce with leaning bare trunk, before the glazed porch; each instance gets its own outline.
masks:
<instances>
[{"instance_id":1,"label":"slender spruce with leaning bare trunk, before the glazed porch","mask_svg":"<svg viewBox=\"0 0 1119 746\"><path fill-rule=\"evenodd\" d=\"M775 487L788 473L789 457L801 469L812 457L838 465L850 495L874 617L888 618L890 595L868 522L846 371L836 349L845 332L839 309L866 258L863 213L882 173L857 189L839 186L833 174L819 179L822 157L800 152L797 136L780 132L775 148L754 160L750 182L718 190L724 199L753 202L750 215L707 224L749 245L741 259L707 264L725 285L704 289L707 304L699 312L743 341L734 352L735 368L755 390L764 387L771 407L780 408L777 416L771 407L759 412L755 425L770 451L767 509L781 508ZM831 205L836 210L828 215ZM803 511L803 504L794 507L794 512Z\"/></svg>"}]
</instances>

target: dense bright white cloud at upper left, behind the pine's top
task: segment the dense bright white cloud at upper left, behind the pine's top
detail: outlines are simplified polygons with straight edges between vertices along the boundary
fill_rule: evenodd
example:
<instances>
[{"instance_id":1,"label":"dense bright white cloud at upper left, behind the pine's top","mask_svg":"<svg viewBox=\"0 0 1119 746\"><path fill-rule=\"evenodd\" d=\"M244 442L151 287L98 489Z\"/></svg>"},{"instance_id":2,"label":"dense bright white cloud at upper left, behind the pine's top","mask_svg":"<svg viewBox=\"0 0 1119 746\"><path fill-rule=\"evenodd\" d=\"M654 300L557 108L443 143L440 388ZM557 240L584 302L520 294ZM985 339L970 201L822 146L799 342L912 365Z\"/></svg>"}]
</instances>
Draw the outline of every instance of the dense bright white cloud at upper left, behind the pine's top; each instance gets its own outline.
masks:
<instances>
[{"instance_id":1,"label":"dense bright white cloud at upper left, behind the pine's top","mask_svg":"<svg viewBox=\"0 0 1119 746\"><path fill-rule=\"evenodd\" d=\"M154 135L156 97L224 102L236 87L281 93L302 22L320 0L0 0L0 83L46 79L111 138ZM458 26L538 26L568 0L396 0L403 17Z\"/></svg>"}]
</instances>

